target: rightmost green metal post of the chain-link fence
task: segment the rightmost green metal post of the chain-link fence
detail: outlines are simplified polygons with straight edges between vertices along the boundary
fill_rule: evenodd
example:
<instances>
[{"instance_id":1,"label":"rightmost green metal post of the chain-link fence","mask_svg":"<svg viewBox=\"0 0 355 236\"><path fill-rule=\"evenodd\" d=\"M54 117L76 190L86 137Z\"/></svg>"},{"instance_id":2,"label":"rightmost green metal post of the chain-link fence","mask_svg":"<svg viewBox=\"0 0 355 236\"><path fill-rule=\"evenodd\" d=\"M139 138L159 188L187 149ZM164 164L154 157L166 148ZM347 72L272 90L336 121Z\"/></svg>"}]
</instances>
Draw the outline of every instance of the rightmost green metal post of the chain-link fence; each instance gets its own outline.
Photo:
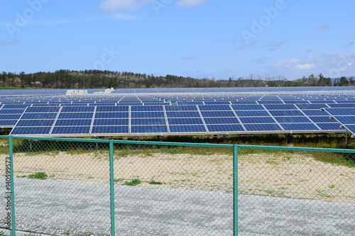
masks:
<instances>
[{"instance_id":1,"label":"rightmost green metal post of the chain-link fence","mask_svg":"<svg viewBox=\"0 0 355 236\"><path fill-rule=\"evenodd\" d=\"M233 235L238 235L238 145L233 146Z\"/></svg>"}]
</instances>

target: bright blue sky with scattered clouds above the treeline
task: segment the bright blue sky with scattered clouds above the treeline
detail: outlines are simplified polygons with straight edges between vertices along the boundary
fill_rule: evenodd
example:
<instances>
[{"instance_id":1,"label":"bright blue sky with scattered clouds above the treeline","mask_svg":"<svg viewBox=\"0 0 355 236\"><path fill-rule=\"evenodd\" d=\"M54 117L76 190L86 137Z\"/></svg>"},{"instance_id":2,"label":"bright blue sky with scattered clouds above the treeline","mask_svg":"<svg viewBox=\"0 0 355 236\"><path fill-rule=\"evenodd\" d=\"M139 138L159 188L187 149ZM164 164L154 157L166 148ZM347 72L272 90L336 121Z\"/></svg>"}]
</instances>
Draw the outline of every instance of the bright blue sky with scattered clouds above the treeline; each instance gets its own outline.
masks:
<instances>
[{"instance_id":1,"label":"bright blue sky with scattered clouds above the treeline","mask_svg":"<svg viewBox=\"0 0 355 236\"><path fill-rule=\"evenodd\" d=\"M355 76L355 1L0 0L0 72Z\"/></svg>"}]
</instances>

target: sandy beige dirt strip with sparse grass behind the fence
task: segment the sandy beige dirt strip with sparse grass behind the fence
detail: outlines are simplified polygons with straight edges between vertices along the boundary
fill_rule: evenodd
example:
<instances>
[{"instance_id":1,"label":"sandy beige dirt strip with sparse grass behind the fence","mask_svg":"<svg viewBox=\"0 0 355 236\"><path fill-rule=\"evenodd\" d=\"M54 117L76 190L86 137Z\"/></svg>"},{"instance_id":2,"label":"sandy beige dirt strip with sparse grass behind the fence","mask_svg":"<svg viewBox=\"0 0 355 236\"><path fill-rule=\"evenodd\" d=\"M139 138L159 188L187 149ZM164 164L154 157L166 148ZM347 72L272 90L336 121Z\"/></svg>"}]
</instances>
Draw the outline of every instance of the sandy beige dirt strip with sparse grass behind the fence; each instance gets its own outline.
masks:
<instances>
[{"instance_id":1,"label":"sandy beige dirt strip with sparse grass behind the fence","mask_svg":"<svg viewBox=\"0 0 355 236\"><path fill-rule=\"evenodd\" d=\"M108 157L108 152L16 153L15 176L45 172L50 179L108 182ZM143 186L226 192L233 190L232 169L227 154L114 156L116 184L138 179ZM307 154L241 154L238 172L239 193L355 203L355 168L320 162Z\"/></svg>"}]
</instances>

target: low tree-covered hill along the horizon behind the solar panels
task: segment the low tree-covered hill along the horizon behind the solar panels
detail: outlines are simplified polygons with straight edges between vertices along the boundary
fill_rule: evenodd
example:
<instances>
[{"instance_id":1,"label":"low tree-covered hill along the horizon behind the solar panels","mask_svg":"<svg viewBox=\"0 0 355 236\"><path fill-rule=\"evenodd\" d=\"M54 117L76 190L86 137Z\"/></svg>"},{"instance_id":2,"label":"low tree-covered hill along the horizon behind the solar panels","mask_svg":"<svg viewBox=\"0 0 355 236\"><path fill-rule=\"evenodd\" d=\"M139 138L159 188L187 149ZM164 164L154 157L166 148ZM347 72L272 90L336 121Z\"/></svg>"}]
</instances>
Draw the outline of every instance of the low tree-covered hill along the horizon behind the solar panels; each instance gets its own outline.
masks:
<instances>
[{"instance_id":1,"label":"low tree-covered hill along the horizon behind the solar panels","mask_svg":"<svg viewBox=\"0 0 355 236\"><path fill-rule=\"evenodd\" d=\"M322 74L311 74L289 81L285 77L262 77L251 74L243 78L195 79L167 74L154 76L133 72L111 72L108 70L72 71L60 69L55 72L19 74L2 72L1 87L38 89L101 89L101 88L199 88L199 87L262 87L262 86L353 86L354 77L330 79Z\"/></svg>"}]
</instances>

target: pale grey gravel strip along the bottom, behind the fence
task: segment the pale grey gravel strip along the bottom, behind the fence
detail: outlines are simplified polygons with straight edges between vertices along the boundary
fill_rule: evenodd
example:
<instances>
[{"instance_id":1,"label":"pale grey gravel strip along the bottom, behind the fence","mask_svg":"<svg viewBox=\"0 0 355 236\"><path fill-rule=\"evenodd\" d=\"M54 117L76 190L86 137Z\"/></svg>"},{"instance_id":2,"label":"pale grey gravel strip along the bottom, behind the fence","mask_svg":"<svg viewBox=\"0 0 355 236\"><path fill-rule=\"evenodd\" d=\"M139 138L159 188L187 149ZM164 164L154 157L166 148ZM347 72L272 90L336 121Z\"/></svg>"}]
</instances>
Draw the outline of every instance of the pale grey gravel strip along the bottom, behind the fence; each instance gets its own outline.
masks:
<instances>
[{"instance_id":1,"label":"pale grey gravel strip along the bottom, behind the fence","mask_svg":"<svg viewBox=\"0 0 355 236\"><path fill-rule=\"evenodd\" d=\"M108 184L16 178L15 185L16 227L26 231L17 235L109 235ZM232 201L231 193L116 184L116 235L233 235ZM3 209L4 201L0 225ZM239 235L352 236L354 219L354 204L239 195Z\"/></svg>"}]
</instances>

